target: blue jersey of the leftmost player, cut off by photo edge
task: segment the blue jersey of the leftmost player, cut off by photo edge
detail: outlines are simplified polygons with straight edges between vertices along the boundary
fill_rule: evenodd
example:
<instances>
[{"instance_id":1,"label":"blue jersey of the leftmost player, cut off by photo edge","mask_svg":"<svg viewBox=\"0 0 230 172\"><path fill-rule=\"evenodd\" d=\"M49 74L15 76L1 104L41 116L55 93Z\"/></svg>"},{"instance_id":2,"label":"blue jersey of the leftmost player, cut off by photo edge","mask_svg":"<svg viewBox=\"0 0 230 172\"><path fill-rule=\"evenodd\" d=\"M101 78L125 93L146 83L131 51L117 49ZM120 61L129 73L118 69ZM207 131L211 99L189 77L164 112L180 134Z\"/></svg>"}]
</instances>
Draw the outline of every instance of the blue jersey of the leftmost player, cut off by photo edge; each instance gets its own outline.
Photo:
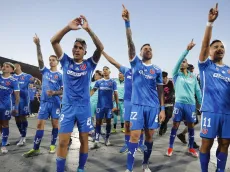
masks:
<instances>
[{"instance_id":1,"label":"blue jersey of the leftmost player, cut off by photo edge","mask_svg":"<svg viewBox=\"0 0 230 172\"><path fill-rule=\"evenodd\" d=\"M11 108L14 91L20 91L17 80L12 76L4 78L0 75L0 109Z\"/></svg>"}]
</instances>

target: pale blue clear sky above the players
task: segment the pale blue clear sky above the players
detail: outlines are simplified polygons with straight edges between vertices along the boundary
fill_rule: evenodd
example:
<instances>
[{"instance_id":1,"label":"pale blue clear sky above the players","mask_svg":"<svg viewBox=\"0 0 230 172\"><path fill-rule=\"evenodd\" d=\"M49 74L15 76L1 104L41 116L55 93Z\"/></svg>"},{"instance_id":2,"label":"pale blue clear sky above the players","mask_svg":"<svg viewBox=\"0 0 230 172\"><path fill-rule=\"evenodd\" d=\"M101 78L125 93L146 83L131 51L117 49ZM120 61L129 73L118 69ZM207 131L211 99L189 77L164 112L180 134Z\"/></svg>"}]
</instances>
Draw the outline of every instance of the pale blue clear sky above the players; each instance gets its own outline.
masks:
<instances>
[{"instance_id":1,"label":"pale blue clear sky above the players","mask_svg":"<svg viewBox=\"0 0 230 172\"><path fill-rule=\"evenodd\" d=\"M226 46L224 63L230 65L230 0L0 0L0 56L38 66L35 33L40 37L45 65L54 54L50 39L69 21L81 14L105 47L105 52L120 64L130 67L125 24L121 17L122 4L130 12L131 29L136 53L150 43L153 49L152 63L171 76L176 61L191 39L196 46L187 56L195 66L207 23L208 12L219 1L212 39L220 39ZM83 30L67 33L61 41L62 49L72 56L76 38L83 38L88 45L85 58L92 56L95 45ZM111 68L112 77L118 70L102 56L97 69Z\"/></svg>"}]
</instances>

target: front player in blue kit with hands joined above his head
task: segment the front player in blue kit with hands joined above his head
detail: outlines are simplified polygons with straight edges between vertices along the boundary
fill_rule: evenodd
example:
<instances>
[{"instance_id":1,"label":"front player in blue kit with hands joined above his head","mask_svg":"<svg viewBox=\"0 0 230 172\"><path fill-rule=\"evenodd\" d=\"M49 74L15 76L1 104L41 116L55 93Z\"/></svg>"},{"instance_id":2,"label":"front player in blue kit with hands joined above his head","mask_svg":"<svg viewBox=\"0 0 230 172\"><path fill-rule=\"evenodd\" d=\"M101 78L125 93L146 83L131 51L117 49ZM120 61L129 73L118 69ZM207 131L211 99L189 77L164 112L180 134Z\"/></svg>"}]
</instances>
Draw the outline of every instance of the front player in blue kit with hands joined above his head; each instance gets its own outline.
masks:
<instances>
[{"instance_id":1,"label":"front player in blue kit with hands joined above his head","mask_svg":"<svg viewBox=\"0 0 230 172\"><path fill-rule=\"evenodd\" d=\"M83 39L78 38L74 42L72 48L73 58L63 53L60 46L63 36L71 30L79 30L80 26L89 33L96 46L93 56L87 60L83 59L87 53L87 45ZM84 16L72 20L54 35L51 43L62 65L64 86L56 159L57 172L64 172L67 147L75 122L77 123L81 142L77 172L84 172L88 157L88 133L93 129L90 110L90 80L104 47L89 27L88 21Z\"/></svg>"}]
</instances>

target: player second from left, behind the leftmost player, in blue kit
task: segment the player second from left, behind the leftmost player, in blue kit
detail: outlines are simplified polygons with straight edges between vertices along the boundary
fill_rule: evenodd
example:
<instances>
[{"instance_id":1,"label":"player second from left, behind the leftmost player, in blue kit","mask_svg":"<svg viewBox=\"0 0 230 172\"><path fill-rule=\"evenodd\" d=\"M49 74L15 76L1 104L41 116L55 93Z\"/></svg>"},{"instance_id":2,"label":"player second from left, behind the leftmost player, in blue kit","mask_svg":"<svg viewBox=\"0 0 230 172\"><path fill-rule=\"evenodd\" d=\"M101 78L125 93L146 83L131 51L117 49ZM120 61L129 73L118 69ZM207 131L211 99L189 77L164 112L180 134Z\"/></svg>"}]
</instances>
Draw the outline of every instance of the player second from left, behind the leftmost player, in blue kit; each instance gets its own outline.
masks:
<instances>
[{"instance_id":1,"label":"player second from left, behind the leftmost player, in blue kit","mask_svg":"<svg viewBox=\"0 0 230 172\"><path fill-rule=\"evenodd\" d=\"M15 74L13 77L18 81L20 87L20 103L18 114L15 116L16 125L21 134L17 146L23 146L26 143L26 133L28 127L27 115L29 115L29 84L37 82L37 78L22 72L20 64L16 63ZM13 102L14 104L14 102Z\"/></svg>"}]
</instances>

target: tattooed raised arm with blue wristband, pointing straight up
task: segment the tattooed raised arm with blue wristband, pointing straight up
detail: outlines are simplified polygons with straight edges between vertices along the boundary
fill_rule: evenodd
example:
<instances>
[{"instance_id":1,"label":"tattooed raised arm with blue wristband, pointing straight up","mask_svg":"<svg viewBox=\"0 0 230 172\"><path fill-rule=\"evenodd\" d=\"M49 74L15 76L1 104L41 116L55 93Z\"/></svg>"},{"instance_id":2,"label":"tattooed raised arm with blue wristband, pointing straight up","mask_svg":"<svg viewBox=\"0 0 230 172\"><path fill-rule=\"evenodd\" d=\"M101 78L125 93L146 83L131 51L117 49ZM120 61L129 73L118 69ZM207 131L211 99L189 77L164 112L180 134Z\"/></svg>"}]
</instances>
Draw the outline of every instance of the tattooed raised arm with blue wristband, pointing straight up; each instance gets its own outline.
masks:
<instances>
[{"instance_id":1,"label":"tattooed raised arm with blue wristband, pointing straight up","mask_svg":"<svg viewBox=\"0 0 230 172\"><path fill-rule=\"evenodd\" d=\"M127 36L127 42L128 42L128 52L129 52L129 60L132 60L136 55L135 46L132 39L132 32L130 28L130 16L129 11L123 6L122 11L122 18L125 20L125 27L126 27L126 36Z\"/></svg>"}]
</instances>

